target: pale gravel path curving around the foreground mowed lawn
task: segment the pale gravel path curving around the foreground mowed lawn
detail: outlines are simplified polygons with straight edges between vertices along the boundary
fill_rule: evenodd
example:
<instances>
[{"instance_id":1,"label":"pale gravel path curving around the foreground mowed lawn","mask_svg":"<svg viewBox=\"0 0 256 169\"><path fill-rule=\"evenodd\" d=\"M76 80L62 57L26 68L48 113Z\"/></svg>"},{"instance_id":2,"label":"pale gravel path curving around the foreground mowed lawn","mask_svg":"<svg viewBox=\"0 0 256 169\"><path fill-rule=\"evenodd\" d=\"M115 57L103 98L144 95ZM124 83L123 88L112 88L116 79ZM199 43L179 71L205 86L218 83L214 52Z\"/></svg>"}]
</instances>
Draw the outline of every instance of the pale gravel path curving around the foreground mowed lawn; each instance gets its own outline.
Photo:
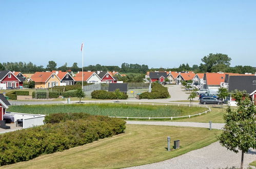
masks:
<instances>
[{"instance_id":1,"label":"pale gravel path curving around the foreground mowed lawn","mask_svg":"<svg viewBox=\"0 0 256 169\"><path fill-rule=\"evenodd\" d=\"M127 124L147 124L147 125L176 125L209 128L209 123L198 122L169 122L169 121L127 121ZM221 129L223 123L212 123L213 129ZM256 150L250 150L244 155L244 168L249 163L256 160ZM214 142L202 149L194 150L169 160L152 164L140 165L130 168L224 168L240 166L241 152L235 154L222 147L219 142Z\"/></svg>"}]
</instances>

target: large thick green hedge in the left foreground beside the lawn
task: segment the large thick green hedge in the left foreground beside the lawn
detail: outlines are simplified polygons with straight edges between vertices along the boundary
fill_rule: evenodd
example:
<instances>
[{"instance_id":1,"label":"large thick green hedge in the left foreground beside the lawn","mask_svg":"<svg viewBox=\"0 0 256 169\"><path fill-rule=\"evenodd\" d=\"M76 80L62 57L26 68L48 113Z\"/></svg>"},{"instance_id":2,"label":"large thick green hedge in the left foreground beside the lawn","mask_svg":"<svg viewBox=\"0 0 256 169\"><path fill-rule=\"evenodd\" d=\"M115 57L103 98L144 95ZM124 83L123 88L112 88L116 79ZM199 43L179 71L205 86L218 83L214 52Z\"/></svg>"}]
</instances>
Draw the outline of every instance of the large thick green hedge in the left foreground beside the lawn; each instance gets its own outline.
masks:
<instances>
[{"instance_id":1,"label":"large thick green hedge in the left foreground beside the lawn","mask_svg":"<svg viewBox=\"0 0 256 169\"><path fill-rule=\"evenodd\" d=\"M54 121L57 116L57 121L63 122L49 122ZM107 116L70 113L48 117L48 122L34 128L0 135L0 165L61 152L100 138L123 133L125 130L125 121Z\"/></svg>"}]
</instances>

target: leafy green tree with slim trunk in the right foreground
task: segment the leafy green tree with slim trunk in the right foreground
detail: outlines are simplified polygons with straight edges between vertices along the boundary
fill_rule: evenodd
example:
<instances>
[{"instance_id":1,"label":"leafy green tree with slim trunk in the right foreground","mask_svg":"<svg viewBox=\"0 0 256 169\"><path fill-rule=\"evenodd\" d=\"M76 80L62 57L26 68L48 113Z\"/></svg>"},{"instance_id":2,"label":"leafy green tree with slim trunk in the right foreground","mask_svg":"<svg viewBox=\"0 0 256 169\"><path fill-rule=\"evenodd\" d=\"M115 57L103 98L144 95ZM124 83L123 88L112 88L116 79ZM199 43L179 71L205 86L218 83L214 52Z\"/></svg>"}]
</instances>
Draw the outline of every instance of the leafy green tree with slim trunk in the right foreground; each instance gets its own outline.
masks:
<instances>
[{"instance_id":1,"label":"leafy green tree with slim trunk in the right foreground","mask_svg":"<svg viewBox=\"0 0 256 169\"><path fill-rule=\"evenodd\" d=\"M250 148L256 149L256 110L254 102L245 91L234 91L232 97L237 101L238 108L231 109L228 106L223 115L225 125L222 134L217 138L228 150L235 153L242 151L243 168L244 153Z\"/></svg>"}]
</instances>

